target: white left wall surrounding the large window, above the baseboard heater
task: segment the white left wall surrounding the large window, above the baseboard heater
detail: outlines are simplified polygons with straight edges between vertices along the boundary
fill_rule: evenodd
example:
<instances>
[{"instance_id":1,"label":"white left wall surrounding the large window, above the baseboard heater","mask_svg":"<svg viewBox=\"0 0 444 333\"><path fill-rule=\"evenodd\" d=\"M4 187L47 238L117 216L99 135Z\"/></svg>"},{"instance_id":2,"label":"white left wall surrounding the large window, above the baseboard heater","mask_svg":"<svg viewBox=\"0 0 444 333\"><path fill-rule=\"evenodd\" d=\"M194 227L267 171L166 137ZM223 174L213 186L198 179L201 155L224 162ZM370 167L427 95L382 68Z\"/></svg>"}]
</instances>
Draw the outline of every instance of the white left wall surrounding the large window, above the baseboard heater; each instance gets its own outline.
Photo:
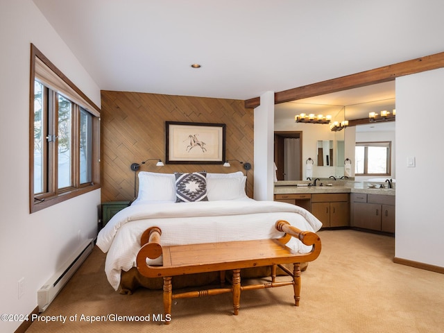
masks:
<instances>
[{"instance_id":1,"label":"white left wall surrounding the large window, above the baseboard heater","mask_svg":"<svg viewBox=\"0 0 444 333\"><path fill-rule=\"evenodd\" d=\"M1 314L29 314L37 290L81 241L96 236L100 190L29 214L30 43L96 105L100 89L31 0L0 5L0 265ZM80 240L78 232L80 230ZM17 282L24 278L24 296ZM0 332L21 323L1 322Z\"/></svg>"}]
</instances>

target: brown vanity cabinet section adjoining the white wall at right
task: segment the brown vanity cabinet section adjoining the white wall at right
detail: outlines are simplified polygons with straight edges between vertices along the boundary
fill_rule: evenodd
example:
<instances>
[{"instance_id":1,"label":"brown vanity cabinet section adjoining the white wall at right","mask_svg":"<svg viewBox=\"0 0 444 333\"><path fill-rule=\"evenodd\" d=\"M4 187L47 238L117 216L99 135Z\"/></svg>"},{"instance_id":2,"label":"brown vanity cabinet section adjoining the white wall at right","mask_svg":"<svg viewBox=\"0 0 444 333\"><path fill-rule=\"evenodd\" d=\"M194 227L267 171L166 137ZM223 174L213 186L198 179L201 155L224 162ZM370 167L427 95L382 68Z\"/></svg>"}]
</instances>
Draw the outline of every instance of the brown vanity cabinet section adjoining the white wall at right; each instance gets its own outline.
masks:
<instances>
[{"instance_id":1,"label":"brown vanity cabinet section adjoining the white wall at right","mask_svg":"<svg viewBox=\"0 0 444 333\"><path fill-rule=\"evenodd\" d=\"M395 232L395 196L352 194L352 226Z\"/></svg>"}]
</instances>

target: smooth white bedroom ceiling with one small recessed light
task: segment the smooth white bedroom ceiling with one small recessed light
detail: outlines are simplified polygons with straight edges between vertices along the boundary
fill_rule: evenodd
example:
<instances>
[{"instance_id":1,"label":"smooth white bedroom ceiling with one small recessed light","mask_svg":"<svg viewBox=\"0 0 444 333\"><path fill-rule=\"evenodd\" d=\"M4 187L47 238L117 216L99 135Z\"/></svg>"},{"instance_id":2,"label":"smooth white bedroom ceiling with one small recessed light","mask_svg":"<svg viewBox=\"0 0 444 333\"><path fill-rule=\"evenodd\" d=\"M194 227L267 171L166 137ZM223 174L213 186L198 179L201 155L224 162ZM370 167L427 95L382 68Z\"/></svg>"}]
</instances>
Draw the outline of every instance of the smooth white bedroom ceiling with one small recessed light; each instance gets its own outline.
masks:
<instances>
[{"instance_id":1,"label":"smooth white bedroom ceiling with one small recessed light","mask_svg":"<svg viewBox=\"0 0 444 333\"><path fill-rule=\"evenodd\" d=\"M444 51L442 0L33 1L103 90L246 100Z\"/></svg>"}]
</instances>

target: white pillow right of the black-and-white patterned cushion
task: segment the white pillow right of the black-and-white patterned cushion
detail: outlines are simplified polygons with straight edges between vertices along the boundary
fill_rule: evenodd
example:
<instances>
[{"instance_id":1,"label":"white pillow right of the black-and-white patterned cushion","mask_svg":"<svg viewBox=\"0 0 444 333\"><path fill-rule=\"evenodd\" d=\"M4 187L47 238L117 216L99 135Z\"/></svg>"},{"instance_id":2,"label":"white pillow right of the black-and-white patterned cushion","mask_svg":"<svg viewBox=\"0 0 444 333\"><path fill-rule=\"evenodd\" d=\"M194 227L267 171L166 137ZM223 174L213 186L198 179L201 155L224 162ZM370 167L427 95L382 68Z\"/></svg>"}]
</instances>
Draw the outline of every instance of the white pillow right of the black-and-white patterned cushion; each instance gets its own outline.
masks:
<instances>
[{"instance_id":1,"label":"white pillow right of the black-and-white patterned cushion","mask_svg":"<svg viewBox=\"0 0 444 333\"><path fill-rule=\"evenodd\" d=\"M243 173L242 173L243 175ZM245 182L246 176L207 178L207 198L214 200L235 200L246 198Z\"/></svg>"}]
</instances>

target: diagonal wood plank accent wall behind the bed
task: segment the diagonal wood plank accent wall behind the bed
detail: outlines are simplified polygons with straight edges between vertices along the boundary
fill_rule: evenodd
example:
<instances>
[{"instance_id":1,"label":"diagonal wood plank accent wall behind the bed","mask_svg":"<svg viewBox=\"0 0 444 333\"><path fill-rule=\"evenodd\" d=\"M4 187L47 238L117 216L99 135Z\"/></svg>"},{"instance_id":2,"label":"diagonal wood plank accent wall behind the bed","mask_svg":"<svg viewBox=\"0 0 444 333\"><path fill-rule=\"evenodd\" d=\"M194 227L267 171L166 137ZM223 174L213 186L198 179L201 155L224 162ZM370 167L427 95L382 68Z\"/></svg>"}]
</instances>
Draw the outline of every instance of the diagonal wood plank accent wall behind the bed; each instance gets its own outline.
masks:
<instances>
[{"instance_id":1,"label":"diagonal wood plank accent wall behind the bed","mask_svg":"<svg viewBox=\"0 0 444 333\"><path fill-rule=\"evenodd\" d=\"M225 157L250 162L247 193L253 196L253 119L244 101L190 96L101 92L101 200L131 200L134 196L133 162L160 158L165 162L165 121L225 123ZM160 173L243 171L233 161L222 164L142 164L140 171Z\"/></svg>"}]
</instances>

